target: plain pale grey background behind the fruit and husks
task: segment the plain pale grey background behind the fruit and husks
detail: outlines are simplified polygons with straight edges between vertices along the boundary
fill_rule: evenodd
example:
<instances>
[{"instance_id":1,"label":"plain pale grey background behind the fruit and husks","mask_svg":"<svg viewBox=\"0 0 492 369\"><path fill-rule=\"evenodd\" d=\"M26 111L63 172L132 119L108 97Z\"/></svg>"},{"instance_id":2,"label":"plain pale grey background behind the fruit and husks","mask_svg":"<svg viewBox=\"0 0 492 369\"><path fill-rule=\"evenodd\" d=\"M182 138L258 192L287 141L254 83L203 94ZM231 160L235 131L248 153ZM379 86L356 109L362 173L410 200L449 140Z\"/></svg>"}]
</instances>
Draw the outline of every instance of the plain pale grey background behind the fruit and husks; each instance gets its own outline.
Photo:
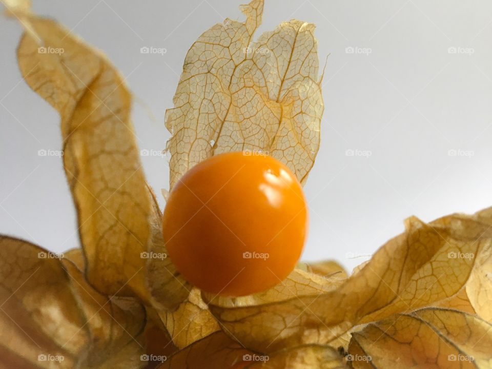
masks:
<instances>
[{"instance_id":1,"label":"plain pale grey background behind the fruit and husks","mask_svg":"<svg viewBox=\"0 0 492 369\"><path fill-rule=\"evenodd\" d=\"M169 137L163 117L189 46L225 17L243 19L236 0L34 3L127 77L145 102L133 111L139 144L155 151ZM492 3L266 0L258 34L290 18L315 23L322 64L330 54L322 144L305 186L304 260L352 269L410 215L429 221L492 205ZM60 150L59 118L19 74L20 33L1 20L0 232L61 252L78 245L72 200L60 158L37 154ZM140 54L144 46L167 52ZM142 161L151 186L167 188L167 159Z\"/></svg>"}]
</instances>

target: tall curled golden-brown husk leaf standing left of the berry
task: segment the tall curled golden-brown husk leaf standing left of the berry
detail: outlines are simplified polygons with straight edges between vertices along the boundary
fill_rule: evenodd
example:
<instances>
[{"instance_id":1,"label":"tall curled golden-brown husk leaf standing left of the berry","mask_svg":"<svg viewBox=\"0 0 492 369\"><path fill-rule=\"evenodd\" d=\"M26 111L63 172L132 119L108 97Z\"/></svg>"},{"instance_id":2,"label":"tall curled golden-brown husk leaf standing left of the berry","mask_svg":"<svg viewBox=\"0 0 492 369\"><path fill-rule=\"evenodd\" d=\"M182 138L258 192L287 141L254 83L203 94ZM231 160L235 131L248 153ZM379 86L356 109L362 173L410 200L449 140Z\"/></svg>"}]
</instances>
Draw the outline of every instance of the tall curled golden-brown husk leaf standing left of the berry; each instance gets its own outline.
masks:
<instances>
[{"instance_id":1,"label":"tall curled golden-brown husk leaf standing left of the berry","mask_svg":"<svg viewBox=\"0 0 492 369\"><path fill-rule=\"evenodd\" d=\"M87 278L102 293L146 299L140 254L149 242L151 199L124 78L53 20L28 20L42 43L25 33L18 64L28 85L60 113Z\"/></svg>"}]
</instances>

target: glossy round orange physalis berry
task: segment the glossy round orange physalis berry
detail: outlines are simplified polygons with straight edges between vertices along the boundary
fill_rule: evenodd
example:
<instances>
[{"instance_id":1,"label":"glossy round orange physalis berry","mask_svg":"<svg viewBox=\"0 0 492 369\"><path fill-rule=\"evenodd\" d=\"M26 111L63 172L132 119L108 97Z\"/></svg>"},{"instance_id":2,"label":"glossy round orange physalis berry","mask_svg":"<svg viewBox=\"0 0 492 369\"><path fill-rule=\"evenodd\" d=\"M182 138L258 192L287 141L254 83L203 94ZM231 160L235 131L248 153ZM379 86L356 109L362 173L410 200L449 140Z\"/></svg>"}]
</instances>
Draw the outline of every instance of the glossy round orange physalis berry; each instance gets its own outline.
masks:
<instances>
[{"instance_id":1,"label":"glossy round orange physalis berry","mask_svg":"<svg viewBox=\"0 0 492 369\"><path fill-rule=\"evenodd\" d=\"M198 288L243 296L280 283L304 245L302 188L270 156L233 152L198 163L175 185L163 235L177 270Z\"/></svg>"}]
</instances>

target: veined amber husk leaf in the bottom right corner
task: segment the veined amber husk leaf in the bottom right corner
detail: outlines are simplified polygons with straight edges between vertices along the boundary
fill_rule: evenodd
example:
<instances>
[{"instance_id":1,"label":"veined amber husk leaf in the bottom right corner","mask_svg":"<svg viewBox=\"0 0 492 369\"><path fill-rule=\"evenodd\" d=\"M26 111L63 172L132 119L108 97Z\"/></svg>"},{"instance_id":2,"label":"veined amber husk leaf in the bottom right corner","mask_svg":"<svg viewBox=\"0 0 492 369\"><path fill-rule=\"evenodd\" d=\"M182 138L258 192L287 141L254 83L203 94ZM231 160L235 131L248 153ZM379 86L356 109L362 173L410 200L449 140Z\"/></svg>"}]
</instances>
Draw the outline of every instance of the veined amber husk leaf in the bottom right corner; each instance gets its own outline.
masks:
<instances>
[{"instance_id":1,"label":"veined amber husk leaf in the bottom right corner","mask_svg":"<svg viewBox=\"0 0 492 369\"><path fill-rule=\"evenodd\" d=\"M426 308L394 315L353 333L354 368L489 368L492 325L456 310Z\"/></svg>"}]
</instances>

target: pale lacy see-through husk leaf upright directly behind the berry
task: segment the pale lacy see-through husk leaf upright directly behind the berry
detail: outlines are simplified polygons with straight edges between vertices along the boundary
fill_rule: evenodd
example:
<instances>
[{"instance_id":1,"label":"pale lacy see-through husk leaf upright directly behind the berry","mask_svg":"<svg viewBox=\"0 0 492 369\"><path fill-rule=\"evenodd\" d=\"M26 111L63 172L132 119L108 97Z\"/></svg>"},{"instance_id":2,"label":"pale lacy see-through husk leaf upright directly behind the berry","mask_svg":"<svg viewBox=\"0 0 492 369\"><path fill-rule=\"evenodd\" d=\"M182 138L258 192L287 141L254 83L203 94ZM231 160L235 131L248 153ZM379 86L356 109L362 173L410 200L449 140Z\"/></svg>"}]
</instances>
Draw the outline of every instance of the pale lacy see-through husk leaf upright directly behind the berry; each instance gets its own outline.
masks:
<instances>
[{"instance_id":1,"label":"pale lacy see-through husk leaf upright directly behind the berry","mask_svg":"<svg viewBox=\"0 0 492 369\"><path fill-rule=\"evenodd\" d=\"M171 188L196 163L223 152L270 154L301 183L314 164L323 114L315 26L291 20L252 42L263 0L241 10L245 22L213 26L186 55L166 112Z\"/></svg>"}]
</instances>

